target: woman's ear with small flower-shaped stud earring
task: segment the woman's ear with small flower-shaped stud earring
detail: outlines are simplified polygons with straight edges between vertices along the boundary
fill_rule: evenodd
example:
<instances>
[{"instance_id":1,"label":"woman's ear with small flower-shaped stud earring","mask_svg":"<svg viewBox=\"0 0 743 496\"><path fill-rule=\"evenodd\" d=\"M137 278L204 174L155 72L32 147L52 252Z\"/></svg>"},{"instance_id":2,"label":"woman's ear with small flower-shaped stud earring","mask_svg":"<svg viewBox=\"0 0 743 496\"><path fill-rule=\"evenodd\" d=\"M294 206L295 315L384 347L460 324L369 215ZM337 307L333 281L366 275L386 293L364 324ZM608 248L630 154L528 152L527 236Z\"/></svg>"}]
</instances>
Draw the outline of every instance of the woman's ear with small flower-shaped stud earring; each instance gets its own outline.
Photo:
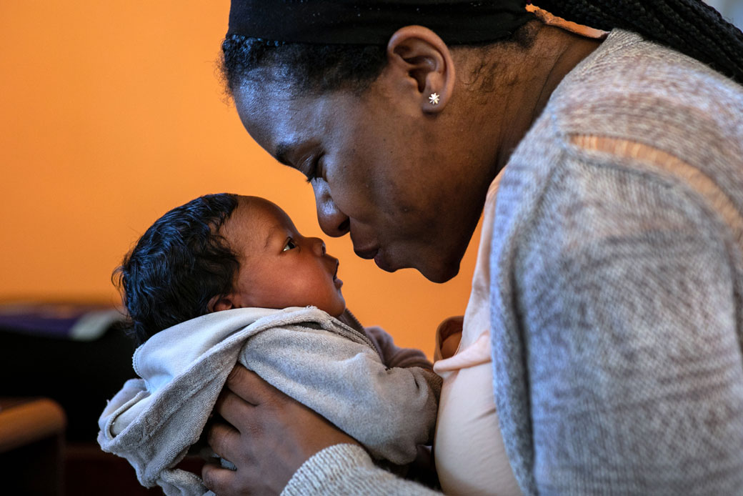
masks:
<instances>
[{"instance_id":1,"label":"woman's ear with small flower-shaped stud earring","mask_svg":"<svg viewBox=\"0 0 743 496\"><path fill-rule=\"evenodd\" d=\"M454 90L455 70L449 47L436 33L423 26L398 29L387 44L387 61L399 69L405 86L415 85L421 110L444 110Z\"/></svg>"}]
</instances>

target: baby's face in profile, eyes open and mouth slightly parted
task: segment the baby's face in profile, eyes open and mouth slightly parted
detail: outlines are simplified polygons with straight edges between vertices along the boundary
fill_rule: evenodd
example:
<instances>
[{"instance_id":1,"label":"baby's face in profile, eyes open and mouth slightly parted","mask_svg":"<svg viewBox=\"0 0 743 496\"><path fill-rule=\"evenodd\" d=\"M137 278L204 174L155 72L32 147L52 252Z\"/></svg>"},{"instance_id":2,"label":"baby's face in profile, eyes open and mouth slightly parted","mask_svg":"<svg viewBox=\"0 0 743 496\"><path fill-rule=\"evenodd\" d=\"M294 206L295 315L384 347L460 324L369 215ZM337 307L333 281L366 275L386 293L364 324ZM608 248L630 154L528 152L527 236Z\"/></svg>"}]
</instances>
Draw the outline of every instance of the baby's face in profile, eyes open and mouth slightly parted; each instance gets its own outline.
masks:
<instances>
[{"instance_id":1,"label":"baby's face in profile, eyes open and mouth slightly parted","mask_svg":"<svg viewBox=\"0 0 743 496\"><path fill-rule=\"evenodd\" d=\"M230 294L233 307L312 305L334 317L345 310L338 260L325 253L322 239L299 234L276 204L241 196L219 233L240 263Z\"/></svg>"}]
</instances>

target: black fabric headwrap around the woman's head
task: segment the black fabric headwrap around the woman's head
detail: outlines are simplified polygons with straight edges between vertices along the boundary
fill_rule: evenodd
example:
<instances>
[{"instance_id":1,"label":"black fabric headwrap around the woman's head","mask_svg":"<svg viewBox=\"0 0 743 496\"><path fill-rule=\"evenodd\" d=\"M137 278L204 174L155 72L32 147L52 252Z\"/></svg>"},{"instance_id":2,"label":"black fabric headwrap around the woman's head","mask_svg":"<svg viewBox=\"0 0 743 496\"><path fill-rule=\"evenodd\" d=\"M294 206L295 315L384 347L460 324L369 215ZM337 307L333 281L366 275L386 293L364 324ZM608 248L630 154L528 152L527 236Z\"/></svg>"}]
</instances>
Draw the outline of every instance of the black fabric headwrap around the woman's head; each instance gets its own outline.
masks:
<instances>
[{"instance_id":1,"label":"black fabric headwrap around the woman's head","mask_svg":"<svg viewBox=\"0 0 743 496\"><path fill-rule=\"evenodd\" d=\"M322 45L386 45L406 25L444 42L490 42L533 19L525 0L232 0L227 34Z\"/></svg>"}]
</instances>

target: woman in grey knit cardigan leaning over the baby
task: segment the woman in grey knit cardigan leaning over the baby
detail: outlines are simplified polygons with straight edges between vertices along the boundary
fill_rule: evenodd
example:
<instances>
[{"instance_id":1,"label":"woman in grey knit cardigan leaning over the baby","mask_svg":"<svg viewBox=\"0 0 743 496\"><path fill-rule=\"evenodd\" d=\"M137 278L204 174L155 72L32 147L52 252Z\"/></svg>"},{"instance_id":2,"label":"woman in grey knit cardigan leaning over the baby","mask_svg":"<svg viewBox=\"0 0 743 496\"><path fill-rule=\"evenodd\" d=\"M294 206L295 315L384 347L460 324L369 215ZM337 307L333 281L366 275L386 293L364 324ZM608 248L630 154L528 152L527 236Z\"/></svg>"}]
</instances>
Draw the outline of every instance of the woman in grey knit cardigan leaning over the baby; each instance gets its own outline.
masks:
<instances>
[{"instance_id":1,"label":"woman in grey knit cardigan leaning over the baby","mask_svg":"<svg viewBox=\"0 0 743 496\"><path fill-rule=\"evenodd\" d=\"M233 0L227 81L380 268L450 279L484 211L448 400L496 423L477 444L442 396L453 492L473 465L493 494L743 494L743 35L695 0L540 7L611 33L517 0ZM426 492L247 370L228 386L219 495Z\"/></svg>"}]
</instances>

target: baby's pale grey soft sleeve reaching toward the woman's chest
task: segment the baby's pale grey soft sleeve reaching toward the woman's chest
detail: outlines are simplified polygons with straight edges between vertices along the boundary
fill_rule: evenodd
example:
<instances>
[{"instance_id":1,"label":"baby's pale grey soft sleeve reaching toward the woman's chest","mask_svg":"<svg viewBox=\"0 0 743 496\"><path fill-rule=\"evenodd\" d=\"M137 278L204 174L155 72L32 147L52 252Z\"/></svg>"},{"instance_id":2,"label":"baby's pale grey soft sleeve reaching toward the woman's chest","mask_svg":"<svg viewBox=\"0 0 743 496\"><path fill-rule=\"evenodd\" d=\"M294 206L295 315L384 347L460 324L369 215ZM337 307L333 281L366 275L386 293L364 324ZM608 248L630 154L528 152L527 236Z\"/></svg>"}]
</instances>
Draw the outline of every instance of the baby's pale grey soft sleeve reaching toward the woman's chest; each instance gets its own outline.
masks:
<instances>
[{"instance_id":1,"label":"baby's pale grey soft sleeve reaching toward the woman's chest","mask_svg":"<svg viewBox=\"0 0 743 496\"><path fill-rule=\"evenodd\" d=\"M396 358L406 366L388 367L366 344L288 326L250 338L240 361L357 439L376 459L404 465L415 460L418 445L432 442L441 378L410 365L412 360Z\"/></svg>"}]
</instances>

